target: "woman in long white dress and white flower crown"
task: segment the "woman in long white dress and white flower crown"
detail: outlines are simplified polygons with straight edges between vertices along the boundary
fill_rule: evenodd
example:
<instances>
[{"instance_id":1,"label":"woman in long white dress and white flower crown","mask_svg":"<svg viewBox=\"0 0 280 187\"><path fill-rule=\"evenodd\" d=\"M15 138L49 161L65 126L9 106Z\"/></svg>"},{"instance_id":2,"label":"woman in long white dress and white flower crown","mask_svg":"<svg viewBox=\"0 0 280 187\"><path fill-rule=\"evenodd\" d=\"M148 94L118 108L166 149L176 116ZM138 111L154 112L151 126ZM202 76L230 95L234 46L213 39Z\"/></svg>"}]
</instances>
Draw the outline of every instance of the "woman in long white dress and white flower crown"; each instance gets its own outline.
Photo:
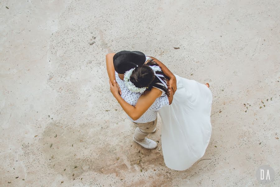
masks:
<instances>
[{"instance_id":1,"label":"woman in long white dress and white flower crown","mask_svg":"<svg viewBox=\"0 0 280 187\"><path fill-rule=\"evenodd\" d=\"M131 91L151 90L154 86L152 84L155 82L159 84L158 81L152 80L160 79L160 84L165 89L160 89L162 94L158 97L164 92L166 95L173 94L172 90L170 92L167 89L168 80L165 74L153 60L148 60L144 65L127 71L124 77L129 83L127 85L133 86L134 89L131 88ZM210 122L212 93L208 83L200 84L178 75L175 77L177 90L173 101L159 110L162 121L161 143L166 166L174 170L186 170L204 155L208 146L212 130ZM135 120L141 117L153 103L142 94L140 98L144 99L138 100L141 104L137 102L135 106L130 105L119 95L119 88L115 81L110 82L110 90L128 116Z\"/></svg>"}]
</instances>

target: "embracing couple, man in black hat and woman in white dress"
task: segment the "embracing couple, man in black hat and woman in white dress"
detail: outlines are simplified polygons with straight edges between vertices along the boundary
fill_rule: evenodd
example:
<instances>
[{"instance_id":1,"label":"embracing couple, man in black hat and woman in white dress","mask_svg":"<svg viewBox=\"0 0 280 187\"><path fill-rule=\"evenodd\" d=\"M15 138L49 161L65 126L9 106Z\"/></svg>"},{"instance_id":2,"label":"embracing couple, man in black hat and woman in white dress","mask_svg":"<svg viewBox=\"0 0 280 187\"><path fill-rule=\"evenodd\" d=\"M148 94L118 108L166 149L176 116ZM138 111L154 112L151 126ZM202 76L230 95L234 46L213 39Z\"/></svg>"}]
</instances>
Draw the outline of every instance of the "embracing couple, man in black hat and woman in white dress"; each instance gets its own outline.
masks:
<instances>
[{"instance_id":1,"label":"embracing couple, man in black hat and woman in white dress","mask_svg":"<svg viewBox=\"0 0 280 187\"><path fill-rule=\"evenodd\" d=\"M159 60L139 51L107 54L106 66L111 93L137 126L133 141L156 148L147 135L156 131L159 113L167 167L186 170L204 155L212 130L208 83L172 74Z\"/></svg>"}]
</instances>

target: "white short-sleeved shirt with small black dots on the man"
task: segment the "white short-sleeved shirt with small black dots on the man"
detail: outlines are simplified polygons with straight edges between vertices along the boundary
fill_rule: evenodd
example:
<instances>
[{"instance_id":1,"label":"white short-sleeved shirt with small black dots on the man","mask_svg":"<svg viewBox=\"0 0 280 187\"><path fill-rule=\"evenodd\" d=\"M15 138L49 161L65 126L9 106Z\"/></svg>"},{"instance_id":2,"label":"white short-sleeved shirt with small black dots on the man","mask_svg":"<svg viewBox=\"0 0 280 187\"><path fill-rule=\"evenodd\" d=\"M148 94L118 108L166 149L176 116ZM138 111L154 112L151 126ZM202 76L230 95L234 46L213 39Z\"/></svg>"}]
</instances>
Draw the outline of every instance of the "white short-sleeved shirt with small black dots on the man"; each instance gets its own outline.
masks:
<instances>
[{"instance_id":1,"label":"white short-sleeved shirt with small black dots on the man","mask_svg":"<svg viewBox=\"0 0 280 187\"><path fill-rule=\"evenodd\" d=\"M119 78L119 74L115 72L116 82L119 84L119 88L122 91L121 97L132 106L135 106L141 93L134 93L130 91L125 85L124 81ZM161 90L162 91L162 90ZM164 96L163 96L164 95ZM138 119L133 120L128 115L128 119L136 123L146 123L152 122L156 120L157 111L161 109L161 107L169 105L168 97L165 92L162 93L161 97L156 98L156 101L152 104L152 106Z\"/></svg>"}]
</instances>

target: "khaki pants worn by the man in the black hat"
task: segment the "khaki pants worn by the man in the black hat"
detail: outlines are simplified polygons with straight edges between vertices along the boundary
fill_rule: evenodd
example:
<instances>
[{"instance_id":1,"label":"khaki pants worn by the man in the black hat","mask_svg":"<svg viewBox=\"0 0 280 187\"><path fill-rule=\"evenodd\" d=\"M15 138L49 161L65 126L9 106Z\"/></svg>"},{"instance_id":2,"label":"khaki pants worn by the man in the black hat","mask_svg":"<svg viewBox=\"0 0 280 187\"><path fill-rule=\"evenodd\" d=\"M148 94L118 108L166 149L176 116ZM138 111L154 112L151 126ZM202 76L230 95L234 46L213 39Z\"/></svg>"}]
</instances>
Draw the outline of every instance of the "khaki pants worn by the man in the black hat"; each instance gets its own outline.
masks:
<instances>
[{"instance_id":1,"label":"khaki pants worn by the man in the black hat","mask_svg":"<svg viewBox=\"0 0 280 187\"><path fill-rule=\"evenodd\" d=\"M137 128L135 129L134 139L137 141L143 141L145 137L153 132L156 128L157 117L155 121L147 122L147 123L136 123Z\"/></svg>"}]
</instances>

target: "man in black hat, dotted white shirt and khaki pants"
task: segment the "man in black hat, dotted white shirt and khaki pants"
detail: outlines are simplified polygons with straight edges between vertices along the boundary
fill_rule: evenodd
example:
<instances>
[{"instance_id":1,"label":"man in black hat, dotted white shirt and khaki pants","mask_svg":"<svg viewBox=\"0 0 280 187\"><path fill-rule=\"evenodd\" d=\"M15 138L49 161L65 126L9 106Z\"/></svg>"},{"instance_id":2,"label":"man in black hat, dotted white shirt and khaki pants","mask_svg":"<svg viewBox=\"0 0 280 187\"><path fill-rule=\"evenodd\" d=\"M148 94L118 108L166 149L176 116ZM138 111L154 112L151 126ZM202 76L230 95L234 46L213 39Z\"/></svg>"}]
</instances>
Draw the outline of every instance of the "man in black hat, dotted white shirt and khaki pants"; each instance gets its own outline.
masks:
<instances>
[{"instance_id":1,"label":"man in black hat, dotted white shirt and khaki pants","mask_svg":"<svg viewBox=\"0 0 280 187\"><path fill-rule=\"evenodd\" d=\"M139 51L120 51L116 54L110 53L106 55L107 72L111 83L118 87L121 97L133 106L137 103L141 93L131 92L124 85L124 73L135 67L135 65L143 65L147 60L152 59L161 67L162 71L169 78L169 91L173 89L175 93L177 89L176 78L159 60L145 56ZM137 125L133 136L135 142L147 149L156 148L157 143L147 138L147 135L156 131L157 111L168 104L171 104L171 102L169 102L167 97L160 97L156 99L153 105L139 119L133 120L128 116L128 118Z\"/></svg>"}]
</instances>

